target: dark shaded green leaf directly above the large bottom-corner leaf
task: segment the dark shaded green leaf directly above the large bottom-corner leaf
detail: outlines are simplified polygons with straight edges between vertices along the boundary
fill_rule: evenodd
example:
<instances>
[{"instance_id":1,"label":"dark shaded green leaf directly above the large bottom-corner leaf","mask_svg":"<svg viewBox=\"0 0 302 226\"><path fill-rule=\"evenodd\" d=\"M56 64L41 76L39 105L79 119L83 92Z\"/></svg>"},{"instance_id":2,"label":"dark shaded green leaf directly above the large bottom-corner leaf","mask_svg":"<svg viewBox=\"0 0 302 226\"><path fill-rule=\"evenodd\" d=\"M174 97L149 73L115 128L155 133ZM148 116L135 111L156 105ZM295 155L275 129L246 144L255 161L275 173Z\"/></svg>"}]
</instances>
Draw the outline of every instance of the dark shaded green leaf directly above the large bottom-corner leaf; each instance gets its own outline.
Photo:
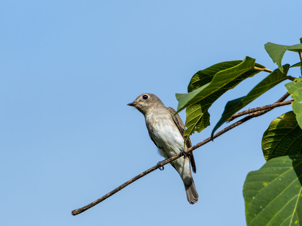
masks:
<instances>
[{"instance_id":1,"label":"dark shaded green leaf directly above the large bottom-corner leaf","mask_svg":"<svg viewBox=\"0 0 302 226\"><path fill-rule=\"evenodd\" d=\"M293 111L271 121L263 134L261 145L266 161L284 155L302 154L302 130Z\"/></svg>"}]
</instances>

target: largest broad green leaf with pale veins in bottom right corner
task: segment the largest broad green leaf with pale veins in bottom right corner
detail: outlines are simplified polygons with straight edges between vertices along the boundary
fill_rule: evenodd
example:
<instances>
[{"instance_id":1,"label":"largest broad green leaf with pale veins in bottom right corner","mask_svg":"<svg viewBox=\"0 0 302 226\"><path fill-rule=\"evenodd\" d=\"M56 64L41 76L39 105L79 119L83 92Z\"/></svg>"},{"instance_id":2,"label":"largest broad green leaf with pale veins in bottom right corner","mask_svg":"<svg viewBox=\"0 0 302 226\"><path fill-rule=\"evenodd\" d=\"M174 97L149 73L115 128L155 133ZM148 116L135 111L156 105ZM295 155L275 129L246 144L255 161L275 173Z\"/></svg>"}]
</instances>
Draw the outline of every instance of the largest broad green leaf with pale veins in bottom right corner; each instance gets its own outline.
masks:
<instances>
[{"instance_id":1,"label":"largest broad green leaf with pale veins in bottom right corner","mask_svg":"<svg viewBox=\"0 0 302 226\"><path fill-rule=\"evenodd\" d=\"M273 158L243 186L248 226L302 224L302 155Z\"/></svg>"}]
</instances>

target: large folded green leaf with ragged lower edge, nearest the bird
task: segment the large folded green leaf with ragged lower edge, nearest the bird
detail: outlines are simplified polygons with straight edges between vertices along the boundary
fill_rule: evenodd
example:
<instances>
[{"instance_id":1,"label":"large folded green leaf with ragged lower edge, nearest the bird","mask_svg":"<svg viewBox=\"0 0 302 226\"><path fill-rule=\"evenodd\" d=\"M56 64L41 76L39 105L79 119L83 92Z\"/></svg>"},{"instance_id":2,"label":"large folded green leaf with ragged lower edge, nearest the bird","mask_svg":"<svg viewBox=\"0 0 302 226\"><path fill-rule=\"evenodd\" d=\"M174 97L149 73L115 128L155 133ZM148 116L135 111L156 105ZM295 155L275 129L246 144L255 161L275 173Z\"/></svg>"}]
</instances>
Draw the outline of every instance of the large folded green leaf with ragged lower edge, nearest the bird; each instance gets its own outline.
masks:
<instances>
[{"instance_id":1,"label":"large folded green leaf with ragged lower edge, nearest the bird","mask_svg":"<svg viewBox=\"0 0 302 226\"><path fill-rule=\"evenodd\" d=\"M259 71L251 69L254 62L255 60L249 57L246 57L245 61L226 61L198 71L192 77L188 85L188 93L176 94L179 101L178 111L187 107L185 134L191 135L194 131L201 132L210 125L210 114L207 111L209 107L227 90L232 89L242 80L259 73ZM260 64L255 64L255 66L265 68ZM182 97L187 100L193 98L197 101L187 102L182 108L179 108L182 104Z\"/></svg>"}]
</instances>

